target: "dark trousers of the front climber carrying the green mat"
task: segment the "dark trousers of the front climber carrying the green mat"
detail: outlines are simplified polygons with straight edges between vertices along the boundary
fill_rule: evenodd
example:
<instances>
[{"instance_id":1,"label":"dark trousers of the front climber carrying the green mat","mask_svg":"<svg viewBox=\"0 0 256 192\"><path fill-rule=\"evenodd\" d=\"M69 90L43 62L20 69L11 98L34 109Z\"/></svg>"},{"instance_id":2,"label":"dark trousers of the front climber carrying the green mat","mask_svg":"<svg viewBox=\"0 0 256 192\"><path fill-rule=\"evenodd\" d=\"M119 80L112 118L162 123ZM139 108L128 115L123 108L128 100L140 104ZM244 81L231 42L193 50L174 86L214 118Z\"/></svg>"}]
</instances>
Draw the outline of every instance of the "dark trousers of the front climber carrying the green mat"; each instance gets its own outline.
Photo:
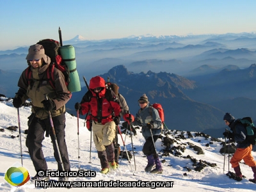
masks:
<instances>
[{"instance_id":1,"label":"dark trousers of the front climber carrying the green mat","mask_svg":"<svg viewBox=\"0 0 256 192\"><path fill-rule=\"evenodd\" d=\"M58 142L58 147L60 149L61 159L65 170L70 170L70 163L68 159L68 150L65 141L65 114L52 117L52 122L54 125L54 130L56 134L56 139ZM52 145L54 149L54 157L58 163L58 170L62 170L61 161L58 155L58 150L56 147L56 140L52 133L51 123L49 118L40 120L34 117L28 127L28 136L26 139L26 146L28 147L29 156L33 161L36 172L38 170L47 170L47 163L44 158L44 153L42 150L42 141L44 140L44 133L49 130L51 136Z\"/></svg>"}]
</instances>

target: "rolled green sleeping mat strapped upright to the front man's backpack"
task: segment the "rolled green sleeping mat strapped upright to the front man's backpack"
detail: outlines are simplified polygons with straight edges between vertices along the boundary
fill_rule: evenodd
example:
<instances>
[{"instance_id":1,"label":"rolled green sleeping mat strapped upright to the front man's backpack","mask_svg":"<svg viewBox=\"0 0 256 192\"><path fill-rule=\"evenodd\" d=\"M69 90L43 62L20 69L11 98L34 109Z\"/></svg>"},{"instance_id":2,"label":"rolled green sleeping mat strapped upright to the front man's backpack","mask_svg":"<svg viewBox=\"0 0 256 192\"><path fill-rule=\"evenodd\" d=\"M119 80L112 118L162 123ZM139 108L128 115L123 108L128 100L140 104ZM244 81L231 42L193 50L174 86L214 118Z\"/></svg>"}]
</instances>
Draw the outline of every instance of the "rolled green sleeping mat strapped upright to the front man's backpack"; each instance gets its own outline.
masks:
<instances>
[{"instance_id":1,"label":"rolled green sleeping mat strapped upright to the front man's backpack","mask_svg":"<svg viewBox=\"0 0 256 192\"><path fill-rule=\"evenodd\" d=\"M76 54L75 48L72 45L63 45L60 47L60 54L63 62L68 67L70 82L68 83L68 90L70 92L80 92L81 84L76 70Z\"/></svg>"}]
</instances>

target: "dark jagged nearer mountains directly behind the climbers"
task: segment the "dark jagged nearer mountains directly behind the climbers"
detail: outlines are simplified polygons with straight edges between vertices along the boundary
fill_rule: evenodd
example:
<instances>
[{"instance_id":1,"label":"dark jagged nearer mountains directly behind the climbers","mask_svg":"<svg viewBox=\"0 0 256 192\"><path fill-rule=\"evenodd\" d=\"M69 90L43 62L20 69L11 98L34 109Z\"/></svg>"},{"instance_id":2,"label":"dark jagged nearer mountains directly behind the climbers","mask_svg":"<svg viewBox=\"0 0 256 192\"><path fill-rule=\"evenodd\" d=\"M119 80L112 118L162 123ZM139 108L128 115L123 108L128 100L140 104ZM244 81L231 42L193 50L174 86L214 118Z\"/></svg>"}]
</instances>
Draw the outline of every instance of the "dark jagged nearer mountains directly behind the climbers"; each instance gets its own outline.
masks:
<instances>
[{"instance_id":1,"label":"dark jagged nearer mountains directly behind the climbers","mask_svg":"<svg viewBox=\"0 0 256 192\"><path fill-rule=\"evenodd\" d=\"M256 88L251 86L255 83L255 67L253 64L244 69L234 69L233 66L221 71L216 69L211 76L200 76L200 81L166 72L148 71L135 74L129 72L124 65L113 67L108 73L100 76L104 79L109 77L112 83L118 84L119 92L124 95L133 115L139 109L138 99L146 93L151 104L162 104L166 116L165 123L169 129L202 131L213 137L221 137L227 128L223 123L223 115L226 112L237 118L252 116L256 119L256 100L250 99L252 94L253 97L256 96ZM220 75L223 73L224 76ZM239 78L232 81L234 77ZM86 91L84 87L82 92ZM74 93L73 97L79 101L83 94Z\"/></svg>"}]
</instances>

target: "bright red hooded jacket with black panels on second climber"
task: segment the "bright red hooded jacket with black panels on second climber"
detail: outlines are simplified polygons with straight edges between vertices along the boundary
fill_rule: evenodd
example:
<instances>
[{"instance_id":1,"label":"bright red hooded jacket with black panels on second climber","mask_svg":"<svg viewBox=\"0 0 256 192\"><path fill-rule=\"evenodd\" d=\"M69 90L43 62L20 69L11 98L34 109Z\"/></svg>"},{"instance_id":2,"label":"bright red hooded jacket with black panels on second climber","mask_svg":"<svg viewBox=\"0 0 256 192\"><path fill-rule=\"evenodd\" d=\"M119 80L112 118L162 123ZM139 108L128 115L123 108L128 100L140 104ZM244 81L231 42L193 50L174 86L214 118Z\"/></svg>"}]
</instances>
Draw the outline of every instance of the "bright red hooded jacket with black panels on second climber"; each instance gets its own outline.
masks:
<instances>
[{"instance_id":1,"label":"bright red hooded jacket with black panels on second climber","mask_svg":"<svg viewBox=\"0 0 256 192\"><path fill-rule=\"evenodd\" d=\"M102 88L99 93L93 89ZM90 90L85 93L81 101L81 114L84 115L90 111L92 119L95 122L101 122L103 125L113 120L115 116L120 118L121 108L119 100L112 90L107 90L105 81L102 77L92 77L90 80Z\"/></svg>"}]
</instances>

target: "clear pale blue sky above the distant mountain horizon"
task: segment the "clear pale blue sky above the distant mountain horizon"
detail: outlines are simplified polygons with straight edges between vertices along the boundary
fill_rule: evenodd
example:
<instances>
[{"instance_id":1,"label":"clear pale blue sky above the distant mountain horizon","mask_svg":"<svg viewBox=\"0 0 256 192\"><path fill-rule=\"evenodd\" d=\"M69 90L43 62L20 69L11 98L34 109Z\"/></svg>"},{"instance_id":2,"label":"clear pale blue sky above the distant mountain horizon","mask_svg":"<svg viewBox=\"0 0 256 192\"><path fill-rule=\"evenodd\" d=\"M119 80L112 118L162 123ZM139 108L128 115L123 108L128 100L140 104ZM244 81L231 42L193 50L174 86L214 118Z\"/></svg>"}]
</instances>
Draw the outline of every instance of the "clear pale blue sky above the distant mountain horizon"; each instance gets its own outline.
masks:
<instances>
[{"instance_id":1,"label":"clear pale blue sky above the distant mountain horizon","mask_svg":"<svg viewBox=\"0 0 256 192\"><path fill-rule=\"evenodd\" d=\"M0 0L0 50L58 40L59 26L63 40L251 33L255 8L254 0Z\"/></svg>"}]
</instances>

